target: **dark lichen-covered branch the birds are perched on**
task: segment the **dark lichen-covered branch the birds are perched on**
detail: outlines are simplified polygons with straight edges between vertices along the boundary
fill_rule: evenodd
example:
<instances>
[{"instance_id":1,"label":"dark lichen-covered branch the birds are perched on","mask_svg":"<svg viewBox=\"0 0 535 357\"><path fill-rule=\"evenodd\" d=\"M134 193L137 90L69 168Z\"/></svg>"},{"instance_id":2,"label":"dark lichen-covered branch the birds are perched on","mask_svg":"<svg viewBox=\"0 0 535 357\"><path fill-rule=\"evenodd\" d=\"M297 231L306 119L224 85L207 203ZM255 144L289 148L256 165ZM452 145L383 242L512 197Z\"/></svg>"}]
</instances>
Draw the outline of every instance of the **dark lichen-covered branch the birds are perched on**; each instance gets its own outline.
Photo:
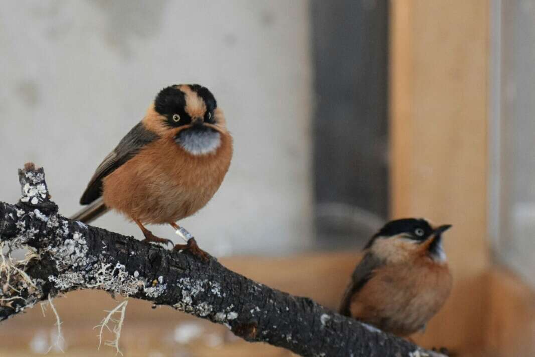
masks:
<instances>
[{"instance_id":1,"label":"dark lichen-covered branch the birds are perched on","mask_svg":"<svg viewBox=\"0 0 535 357\"><path fill-rule=\"evenodd\" d=\"M42 169L19 170L22 198L0 202L0 321L35 303L79 289L167 305L224 324L250 342L302 356L426 356L408 341L202 261L58 214ZM13 261L11 249L26 247ZM6 252L7 250L7 252Z\"/></svg>"}]
</instances>

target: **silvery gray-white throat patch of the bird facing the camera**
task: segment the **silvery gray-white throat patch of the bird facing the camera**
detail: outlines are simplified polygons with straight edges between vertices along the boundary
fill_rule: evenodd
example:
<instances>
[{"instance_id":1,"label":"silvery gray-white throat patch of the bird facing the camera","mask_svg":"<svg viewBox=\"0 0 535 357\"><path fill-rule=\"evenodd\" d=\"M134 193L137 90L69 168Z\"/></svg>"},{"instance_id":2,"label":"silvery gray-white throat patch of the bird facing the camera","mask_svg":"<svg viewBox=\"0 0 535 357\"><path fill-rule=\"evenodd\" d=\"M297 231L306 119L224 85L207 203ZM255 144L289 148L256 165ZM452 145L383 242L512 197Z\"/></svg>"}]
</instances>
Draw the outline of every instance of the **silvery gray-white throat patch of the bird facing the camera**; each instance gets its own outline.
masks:
<instances>
[{"instance_id":1,"label":"silvery gray-white throat patch of the bird facing the camera","mask_svg":"<svg viewBox=\"0 0 535 357\"><path fill-rule=\"evenodd\" d=\"M221 145L221 134L211 128L189 128L178 133L178 145L189 154L207 155L215 153Z\"/></svg>"}]
</instances>

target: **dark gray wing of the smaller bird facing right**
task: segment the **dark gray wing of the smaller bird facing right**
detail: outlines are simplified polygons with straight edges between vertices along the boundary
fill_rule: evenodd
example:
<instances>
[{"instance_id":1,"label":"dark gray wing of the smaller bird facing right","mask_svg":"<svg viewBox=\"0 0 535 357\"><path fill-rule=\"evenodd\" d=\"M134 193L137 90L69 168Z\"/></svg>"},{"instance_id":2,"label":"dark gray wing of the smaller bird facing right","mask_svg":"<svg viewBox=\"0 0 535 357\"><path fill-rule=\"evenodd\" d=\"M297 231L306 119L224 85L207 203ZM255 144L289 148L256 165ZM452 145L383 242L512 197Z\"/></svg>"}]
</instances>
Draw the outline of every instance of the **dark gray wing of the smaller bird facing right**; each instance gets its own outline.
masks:
<instances>
[{"instance_id":1,"label":"dark gray wing of the smaller bird facing right","mask_svg":"<svg viewBox=\"0 0 535 357\"><path fill-rule=\"evenodd\" d=\"M369 250L364 254L362 260L358 263L351 282L346 288L346 292L343 295L342 303L340 305L340 314L345 316L351 316L351 298L371 279L373 271L384 264L382 259Z\"/></svg>"}]
</instances>

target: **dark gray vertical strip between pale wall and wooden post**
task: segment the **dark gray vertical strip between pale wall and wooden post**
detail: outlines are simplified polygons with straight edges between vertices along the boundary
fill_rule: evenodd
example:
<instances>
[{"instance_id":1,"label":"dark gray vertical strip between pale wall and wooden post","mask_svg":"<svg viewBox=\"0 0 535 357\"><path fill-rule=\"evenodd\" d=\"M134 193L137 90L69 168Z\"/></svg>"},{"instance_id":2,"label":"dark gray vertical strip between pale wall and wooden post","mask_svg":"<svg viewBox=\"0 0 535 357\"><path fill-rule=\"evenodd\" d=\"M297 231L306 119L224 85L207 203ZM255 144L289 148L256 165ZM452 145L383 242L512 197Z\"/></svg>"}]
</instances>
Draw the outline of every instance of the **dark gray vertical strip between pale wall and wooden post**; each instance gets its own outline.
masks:
<instances>
[{"instance_id":1,"label":"dark gray vertical strip between pale wall and wooden post","mask_svg":"<svg viewBox=\"0 0 535 357\"><path fill-rule=\"evenodd\" d=\"M312 0L318 244L362 245L388 216L386 0Z\"/></svg>"}]
</instances>

